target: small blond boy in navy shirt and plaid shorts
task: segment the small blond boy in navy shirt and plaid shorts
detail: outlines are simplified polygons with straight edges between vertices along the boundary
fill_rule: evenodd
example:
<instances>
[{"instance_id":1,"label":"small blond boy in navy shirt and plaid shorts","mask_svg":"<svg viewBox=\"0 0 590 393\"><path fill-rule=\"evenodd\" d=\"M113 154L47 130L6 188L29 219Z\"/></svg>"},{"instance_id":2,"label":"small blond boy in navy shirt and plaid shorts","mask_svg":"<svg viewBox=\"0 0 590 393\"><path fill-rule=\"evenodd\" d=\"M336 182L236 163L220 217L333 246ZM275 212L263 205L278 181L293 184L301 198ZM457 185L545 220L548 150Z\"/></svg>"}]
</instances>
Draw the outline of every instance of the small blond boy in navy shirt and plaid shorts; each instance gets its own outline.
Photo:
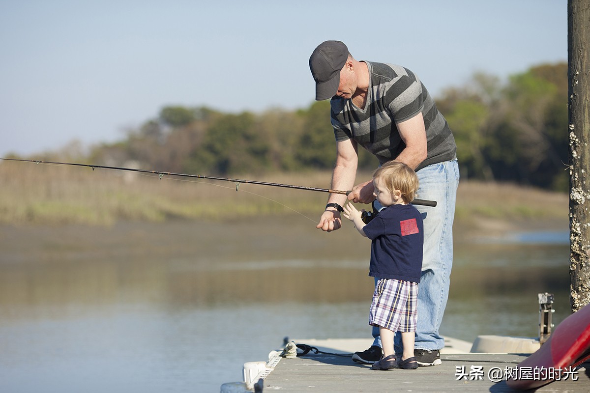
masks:
<instances>
[{"instance_id":1,"label":"small blond boy in navy shirt and plaid shorts","mask_svg":"<svg viewBox=\"0 0 590 393\"><path fill-rule=\"evenodd\" d=\"M352 204L344 207L344 216L360 235L372 240L369 276L375 277L376 285L369 324L379 326L383 357L371 368L416 369L414 333L424 227L420 213L410 202L418 190L418 176L406 164L389 161L373 173L373 186L375 199L385 208L368 224ZM399 364L395 332L401 332L404 348Z\"/></svg>"}]
</instances>

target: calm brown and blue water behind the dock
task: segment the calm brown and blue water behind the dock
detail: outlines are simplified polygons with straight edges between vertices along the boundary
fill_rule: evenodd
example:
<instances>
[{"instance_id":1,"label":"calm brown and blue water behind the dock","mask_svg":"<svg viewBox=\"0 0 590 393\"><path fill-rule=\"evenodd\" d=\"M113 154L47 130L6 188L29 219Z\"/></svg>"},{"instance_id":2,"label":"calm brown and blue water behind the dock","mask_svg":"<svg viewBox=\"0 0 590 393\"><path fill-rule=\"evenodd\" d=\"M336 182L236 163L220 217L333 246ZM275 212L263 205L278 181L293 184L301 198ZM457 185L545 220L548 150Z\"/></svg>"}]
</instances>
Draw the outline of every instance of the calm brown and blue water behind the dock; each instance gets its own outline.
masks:
<instances>
[{"instance_id":1,"label":"calm brown and blue water behind the dock","mask_svg":"<svg viewBox=\"0 0 590 393\"><path fill-rule=\"evenodd\" d=\"M460 239L442 333L569 314L562 232ZM291 338L365 338L369 243L283 222L0 227L0 391L218 392ZM366 348L359 348L359 350Z\"/></svg>"}]
</instances>

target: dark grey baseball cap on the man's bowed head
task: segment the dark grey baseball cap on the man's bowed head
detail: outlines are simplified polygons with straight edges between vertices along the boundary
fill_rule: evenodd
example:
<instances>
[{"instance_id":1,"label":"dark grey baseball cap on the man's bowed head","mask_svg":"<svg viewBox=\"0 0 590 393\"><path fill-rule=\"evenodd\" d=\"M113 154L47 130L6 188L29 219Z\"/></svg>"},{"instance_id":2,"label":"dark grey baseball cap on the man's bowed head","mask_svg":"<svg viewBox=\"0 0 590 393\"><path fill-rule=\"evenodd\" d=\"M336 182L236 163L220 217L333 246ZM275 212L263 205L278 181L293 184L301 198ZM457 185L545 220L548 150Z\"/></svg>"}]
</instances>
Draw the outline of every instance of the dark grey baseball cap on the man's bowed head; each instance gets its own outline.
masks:
<instances>
[{"instance_id":1,"label":"dark grey baseball cap on the man's bowed head","mask_svg":"<svg viewBox=\"0 0 590 393\"><path fill-rule=\"evenodd\" d=\"M316 100L332 98L340 84L340 70L348 59L348 48L340 41L324 41L309 58L309 68L316 81Z\"/></svg>"}]
</instances>

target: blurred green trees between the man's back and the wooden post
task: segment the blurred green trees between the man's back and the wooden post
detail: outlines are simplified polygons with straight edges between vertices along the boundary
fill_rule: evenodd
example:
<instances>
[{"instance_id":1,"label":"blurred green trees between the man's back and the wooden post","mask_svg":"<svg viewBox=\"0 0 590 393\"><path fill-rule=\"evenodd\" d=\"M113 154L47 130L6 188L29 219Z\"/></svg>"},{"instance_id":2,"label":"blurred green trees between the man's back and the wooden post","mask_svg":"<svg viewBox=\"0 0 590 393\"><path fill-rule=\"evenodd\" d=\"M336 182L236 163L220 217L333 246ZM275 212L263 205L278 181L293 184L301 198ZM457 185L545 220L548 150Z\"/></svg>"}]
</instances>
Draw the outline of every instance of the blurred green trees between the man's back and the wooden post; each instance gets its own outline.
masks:
<instances>
[{"instance_id":1,"label":"blurred green trees between the man's back and the wooden post","mask_svg":"<svg viewBox=\"0 0 590 393\"><path fill-rule=\"evenodd\" d=\"M506 84L476 74L436 102L453 130L463 179L567 191L568 65L543 64Z\"/></svg>"}]
</instances>

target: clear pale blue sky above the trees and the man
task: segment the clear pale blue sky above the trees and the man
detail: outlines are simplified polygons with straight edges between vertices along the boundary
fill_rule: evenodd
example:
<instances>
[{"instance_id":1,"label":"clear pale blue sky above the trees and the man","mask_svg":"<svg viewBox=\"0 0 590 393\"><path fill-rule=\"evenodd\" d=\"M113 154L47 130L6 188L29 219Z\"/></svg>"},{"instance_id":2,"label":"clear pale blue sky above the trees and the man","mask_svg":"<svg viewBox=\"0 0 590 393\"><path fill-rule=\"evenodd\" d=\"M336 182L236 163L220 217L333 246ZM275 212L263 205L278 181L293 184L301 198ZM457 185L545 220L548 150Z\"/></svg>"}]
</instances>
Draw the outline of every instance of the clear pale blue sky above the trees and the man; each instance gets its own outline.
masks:
<instances>
[{"instance_id":1,"label":"clear pale blue sky above the trees and the man","mask_svg":"<svg viewBox=\"0 0 590 393\"><path fill-rule=\"evenodd\" d=\"M308 107L326 39L436 97L566 61L567 1L0 0L0 157L121 140L165 105Z\"/></svg>"}]
</instances>

